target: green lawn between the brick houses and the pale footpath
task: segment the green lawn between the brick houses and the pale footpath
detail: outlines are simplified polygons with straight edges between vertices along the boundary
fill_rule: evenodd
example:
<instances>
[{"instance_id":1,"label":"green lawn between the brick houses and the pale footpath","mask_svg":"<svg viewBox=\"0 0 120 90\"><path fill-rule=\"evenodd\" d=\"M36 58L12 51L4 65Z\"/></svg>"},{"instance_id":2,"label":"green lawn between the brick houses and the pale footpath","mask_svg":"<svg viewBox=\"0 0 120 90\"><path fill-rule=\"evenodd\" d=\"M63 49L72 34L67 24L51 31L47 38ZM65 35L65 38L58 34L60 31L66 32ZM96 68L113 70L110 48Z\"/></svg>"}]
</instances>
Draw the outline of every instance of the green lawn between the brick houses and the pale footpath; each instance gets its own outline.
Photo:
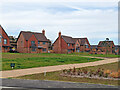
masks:
<instances>
[{"instance_id":1,"label":"green lawn between the brick houses and the pale footpath","mask_svg":"<svg viewBox=\"0 0 120 90\"><path fill-rule=\"evenodd\" d=\"M15 63L14 69L94 62L103 59L81 57L72 54L28 54L3 53L2 70L12 70L10 63Z\"/></svg>"}]
</instances>

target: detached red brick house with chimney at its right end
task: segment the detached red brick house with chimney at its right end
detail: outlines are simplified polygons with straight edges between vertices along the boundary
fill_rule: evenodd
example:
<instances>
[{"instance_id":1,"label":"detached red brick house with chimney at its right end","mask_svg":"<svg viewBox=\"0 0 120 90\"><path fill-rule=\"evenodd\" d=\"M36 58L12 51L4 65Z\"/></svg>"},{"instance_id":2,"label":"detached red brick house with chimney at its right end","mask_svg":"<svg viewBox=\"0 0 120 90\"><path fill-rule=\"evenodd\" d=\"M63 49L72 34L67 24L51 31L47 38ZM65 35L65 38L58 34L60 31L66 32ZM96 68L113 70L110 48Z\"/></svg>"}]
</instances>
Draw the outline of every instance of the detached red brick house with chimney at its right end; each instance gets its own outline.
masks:
<instances>
[{"instance_id":1,"label":"detached red brick house with chimney at its right end","mask_svg":"<svg viewBox=\"0 0 120 90\"><path fill-rule=\"evenodd\" d=\"M21 31L17 39L17 52L20 53L48 53L49 40L42 33Z\"/></svg>"}]
</instances>

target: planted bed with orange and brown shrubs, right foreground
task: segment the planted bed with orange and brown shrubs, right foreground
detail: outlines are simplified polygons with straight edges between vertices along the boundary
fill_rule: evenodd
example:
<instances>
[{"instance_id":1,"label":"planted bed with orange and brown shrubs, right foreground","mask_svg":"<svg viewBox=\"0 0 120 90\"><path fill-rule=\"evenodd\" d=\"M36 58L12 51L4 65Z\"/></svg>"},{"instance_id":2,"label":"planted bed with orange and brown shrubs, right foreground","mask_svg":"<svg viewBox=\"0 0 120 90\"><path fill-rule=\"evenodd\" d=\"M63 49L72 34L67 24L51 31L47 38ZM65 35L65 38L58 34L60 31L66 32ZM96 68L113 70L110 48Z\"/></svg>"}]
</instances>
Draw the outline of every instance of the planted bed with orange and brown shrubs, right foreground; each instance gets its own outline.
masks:
<instances>
[{"instance_id":1,"label":"planted bed with orange and brown shrubs, right foreground","mask_svg":"<svg viewBox=\"0 0 120 90\"><path fill-rule=\"evenodd\" d=\"M91 78L91 79L109 79L109 80L120 80L120 70L111 71L111 70L104 70L99 68L98 70L87 70L83 69L73 69L63 70L60 74L64 77L76 77L76 78Z\"/></svg>"}]
</instances>

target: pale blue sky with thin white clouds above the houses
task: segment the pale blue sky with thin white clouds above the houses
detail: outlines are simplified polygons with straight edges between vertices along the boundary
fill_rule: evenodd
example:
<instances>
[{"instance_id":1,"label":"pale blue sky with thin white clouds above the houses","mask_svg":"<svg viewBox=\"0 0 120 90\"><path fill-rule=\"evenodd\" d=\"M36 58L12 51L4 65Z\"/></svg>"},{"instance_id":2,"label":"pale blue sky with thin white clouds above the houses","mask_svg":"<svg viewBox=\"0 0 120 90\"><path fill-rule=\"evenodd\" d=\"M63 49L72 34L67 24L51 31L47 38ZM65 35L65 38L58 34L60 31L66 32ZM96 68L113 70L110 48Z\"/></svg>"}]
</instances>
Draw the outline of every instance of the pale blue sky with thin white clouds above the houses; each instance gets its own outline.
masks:
<instances>
[{"instance_id":1,"label":"pale blue sky with thin white clouds above the houses","mask_svg":"<svg viewBox=\"0 0 120 90\"><path fill-rule=\"evenodd\" d=\"M13 1L13 2L12 2ZM31 0L32 1L32 0ZM108 0L109 1L109 0ZM41 32L54 41L58 32L72 37L87 37L98 44L106 37L118 43L117 2L42 2L8 0L2 2L0 24L8 35L22 31Z\"/></svg>"}]
</instances>

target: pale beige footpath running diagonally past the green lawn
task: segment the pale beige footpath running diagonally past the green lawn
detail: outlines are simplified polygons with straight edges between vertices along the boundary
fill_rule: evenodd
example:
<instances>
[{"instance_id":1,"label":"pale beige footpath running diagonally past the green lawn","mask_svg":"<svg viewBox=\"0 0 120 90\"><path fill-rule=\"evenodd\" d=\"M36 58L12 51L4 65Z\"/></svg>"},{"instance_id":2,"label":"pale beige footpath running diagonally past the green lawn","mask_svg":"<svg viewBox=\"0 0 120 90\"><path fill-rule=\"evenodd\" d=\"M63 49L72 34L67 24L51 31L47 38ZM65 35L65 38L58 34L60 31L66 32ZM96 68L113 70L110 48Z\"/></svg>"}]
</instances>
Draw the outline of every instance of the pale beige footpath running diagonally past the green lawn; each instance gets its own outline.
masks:
<instances>
[{"instance_id":1,"label":"pale beige footpath running diagonally past the green lawn","mask_svg":"<svg viewBox=\"0 0 120 90\"><path fill-rule=\"evenodd\" d=\"M114 62L118 62L118 61L119 61L118 58L104 58L104 60L95 61L95 62L0 71L0 73L2 72L1 78L18 77L18 76L24 76L24 75L29 75L29 74L59 71L59 70L63 70L63 69L73 68L73 67L81 68L81 67L87 67L87 66L97 66L97 65L102 65L102 64L114 63Z\"/></svg>"}]
</instances>

